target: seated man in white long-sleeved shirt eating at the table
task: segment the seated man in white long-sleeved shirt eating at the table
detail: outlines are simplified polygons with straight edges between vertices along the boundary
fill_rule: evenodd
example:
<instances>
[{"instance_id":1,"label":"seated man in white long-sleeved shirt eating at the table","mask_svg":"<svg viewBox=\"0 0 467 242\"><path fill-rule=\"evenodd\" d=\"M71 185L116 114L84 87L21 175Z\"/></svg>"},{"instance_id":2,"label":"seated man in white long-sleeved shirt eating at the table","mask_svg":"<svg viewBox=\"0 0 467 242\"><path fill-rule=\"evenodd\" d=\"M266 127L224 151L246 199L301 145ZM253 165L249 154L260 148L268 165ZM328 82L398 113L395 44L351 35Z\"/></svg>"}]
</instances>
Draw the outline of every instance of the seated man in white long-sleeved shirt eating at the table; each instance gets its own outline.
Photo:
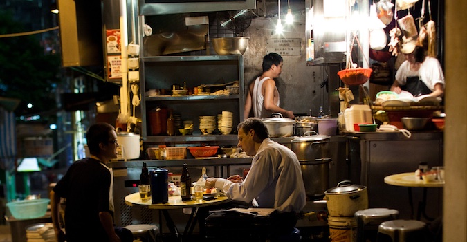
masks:
<instances>
[{"instance_id":1,"label":"seated man in white long-sleeved shirt eating at the table","mask_svg":"<svg viewBox=\"0 0 467 242\"><path fill-rule=\"evenodd\" d=\"M208 178L206 187L221 189L234 201L254 207L275 208L282 234L291 232L297 223L296 213L306 204L302 169L291 149L268 138L268 129L259 118L248 118L238 127L238 147L255 156L248 175L228 179ZM280 234L278 234L280 235Z\"/></svg>"}]
</instances>

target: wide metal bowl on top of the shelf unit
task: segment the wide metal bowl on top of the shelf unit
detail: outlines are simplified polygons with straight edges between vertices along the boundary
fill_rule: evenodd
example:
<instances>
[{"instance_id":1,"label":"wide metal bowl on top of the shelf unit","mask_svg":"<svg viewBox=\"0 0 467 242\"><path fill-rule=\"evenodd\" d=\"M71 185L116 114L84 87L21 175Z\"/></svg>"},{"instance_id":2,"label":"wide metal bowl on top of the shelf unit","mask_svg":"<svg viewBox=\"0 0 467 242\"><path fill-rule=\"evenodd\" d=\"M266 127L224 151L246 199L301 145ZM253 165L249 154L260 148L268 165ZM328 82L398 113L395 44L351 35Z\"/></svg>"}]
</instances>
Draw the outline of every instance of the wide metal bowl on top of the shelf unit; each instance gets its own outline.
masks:
<instances>
[{"instance_id":1,"label":"wide metal bowl on top of the shelf unit","mask_svg":"<svg viewBox=\"0 0 467 242\"><path fill-rule=\"evenodd\" d=\"M249 39L249 37L223 37L211 40L217 55L243 55Z\"/></svg>"}]
</instances>

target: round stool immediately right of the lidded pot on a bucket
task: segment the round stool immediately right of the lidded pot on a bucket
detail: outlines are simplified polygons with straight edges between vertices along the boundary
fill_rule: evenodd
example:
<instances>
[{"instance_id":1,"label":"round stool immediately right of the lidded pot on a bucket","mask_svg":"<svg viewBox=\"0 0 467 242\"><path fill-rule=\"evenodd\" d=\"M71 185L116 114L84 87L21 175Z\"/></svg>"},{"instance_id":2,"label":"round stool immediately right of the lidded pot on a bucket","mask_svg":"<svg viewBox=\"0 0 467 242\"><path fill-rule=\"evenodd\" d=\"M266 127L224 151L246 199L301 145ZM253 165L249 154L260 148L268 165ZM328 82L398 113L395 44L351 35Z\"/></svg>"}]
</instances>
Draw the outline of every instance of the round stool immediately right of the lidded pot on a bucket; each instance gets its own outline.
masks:
<instances>
[{"instance_id":1,"label":"round stool immediately right of the lidded pot on a bucket","mask_svg":"<svg viewBox=\"0 0 467 242\"><path fill-rule=\"evenodd\" d=\"M369 208L355 212L357 220L357 242L376 241L378 226L399 218L399 211L387 208Z\"/></svg>"}]
</instances>

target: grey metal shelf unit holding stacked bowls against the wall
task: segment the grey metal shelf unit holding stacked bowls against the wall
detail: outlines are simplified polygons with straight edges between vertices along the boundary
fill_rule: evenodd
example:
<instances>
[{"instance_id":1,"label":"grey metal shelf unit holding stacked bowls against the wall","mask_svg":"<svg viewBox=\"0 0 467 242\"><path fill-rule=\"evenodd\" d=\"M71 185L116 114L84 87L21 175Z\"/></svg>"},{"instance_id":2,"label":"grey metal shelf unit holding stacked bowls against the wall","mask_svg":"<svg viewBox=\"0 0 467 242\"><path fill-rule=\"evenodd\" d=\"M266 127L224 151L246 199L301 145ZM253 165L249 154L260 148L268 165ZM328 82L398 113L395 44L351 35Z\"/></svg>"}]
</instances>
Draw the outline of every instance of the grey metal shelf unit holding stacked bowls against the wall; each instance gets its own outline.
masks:
<instances>
[{"instance_id":1,"label":"grey metal shelf unit holding stacked bowls against the wall","mask_svg":"<svg viewBox=\"0 0 467 242\"><path fill-rule=\"evenodd\" d=\"M237 144L237 136L230 135L187 135L153 136L149 111L156 107L172 109L181 115L181 120L193 120L194 131L199 131L199 116L217 116L222 111L233 113L232 131L244 120L244 59L242 55L207 56L158 56L140 57L140 71L144 80L140 82L141 117L143 142L176 145L185 142L231 142ZM168 89L172 84L188 88L203 84L226 84L239 81L236 95L161 95L147 97L150 89ZM182 124L183 125L183 124ZM171 144L172 143L172 144Z\"/></svg>"}]
</instances>

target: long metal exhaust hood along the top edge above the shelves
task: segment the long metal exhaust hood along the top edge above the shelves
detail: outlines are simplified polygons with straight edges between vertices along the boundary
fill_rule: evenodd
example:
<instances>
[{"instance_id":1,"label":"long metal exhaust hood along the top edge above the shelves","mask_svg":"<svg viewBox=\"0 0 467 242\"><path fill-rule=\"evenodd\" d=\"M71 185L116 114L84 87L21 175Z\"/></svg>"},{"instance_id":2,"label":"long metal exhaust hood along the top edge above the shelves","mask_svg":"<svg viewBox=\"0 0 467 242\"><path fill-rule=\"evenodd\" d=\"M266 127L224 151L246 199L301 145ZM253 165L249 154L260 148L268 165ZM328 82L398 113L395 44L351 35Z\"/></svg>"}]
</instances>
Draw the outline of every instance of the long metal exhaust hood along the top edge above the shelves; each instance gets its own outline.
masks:
<instances>
[{"instance_id":1,"label":"long metal exhaust hood along the top edge above the shelves","mask_svg":"<svg viewBox=\"0 0 467 242\"><path fill-rule=\"evenodd\" d=\"M217 12L256 8L256 0L140 0L139 15Z\"/></svg>"}]
</instances>

